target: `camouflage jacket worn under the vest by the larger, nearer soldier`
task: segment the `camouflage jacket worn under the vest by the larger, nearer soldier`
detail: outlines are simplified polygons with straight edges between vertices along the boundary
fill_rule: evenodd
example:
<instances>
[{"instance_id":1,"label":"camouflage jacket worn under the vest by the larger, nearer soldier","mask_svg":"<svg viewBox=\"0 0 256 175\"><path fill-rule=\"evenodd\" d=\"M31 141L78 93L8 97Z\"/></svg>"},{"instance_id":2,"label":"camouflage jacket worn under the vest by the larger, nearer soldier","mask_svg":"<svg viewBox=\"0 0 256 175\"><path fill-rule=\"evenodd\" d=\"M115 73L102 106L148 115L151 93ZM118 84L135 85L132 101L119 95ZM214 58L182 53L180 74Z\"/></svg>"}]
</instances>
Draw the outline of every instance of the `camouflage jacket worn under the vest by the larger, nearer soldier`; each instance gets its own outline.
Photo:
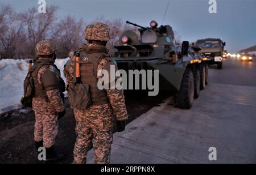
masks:
<instances>
[{"instance_id":1,"label":"camouflage jacket worn under the vest by the larger, nearer soldier","mask_svg":"<svg viewBox=\"0 0 256 175\"><path fill-rule=\"evenodd\" d=\"M94 44L84 45L84 47L94 46ZM72 55L71 55L72 56ZM74 67L75 56L72 56L67 62L67 66L64 69L64 75L67 80L66 84L75 82ZM97 67L97 71L104 69L107 60L103 58ZM100 79L100 76L97 76ZM118 121L124 121L128 118L125 105L125 97L123 91L119 89L108 89L109 103L104 105L92 105L87 109L78 110L74 109L75 117L77 121L84 122L86 126L92 128L98 128L101 130L109 130L113 127L112 116L114 114ZM72 106L71 106L72 107Z\"/></svg>"}]
</instances>

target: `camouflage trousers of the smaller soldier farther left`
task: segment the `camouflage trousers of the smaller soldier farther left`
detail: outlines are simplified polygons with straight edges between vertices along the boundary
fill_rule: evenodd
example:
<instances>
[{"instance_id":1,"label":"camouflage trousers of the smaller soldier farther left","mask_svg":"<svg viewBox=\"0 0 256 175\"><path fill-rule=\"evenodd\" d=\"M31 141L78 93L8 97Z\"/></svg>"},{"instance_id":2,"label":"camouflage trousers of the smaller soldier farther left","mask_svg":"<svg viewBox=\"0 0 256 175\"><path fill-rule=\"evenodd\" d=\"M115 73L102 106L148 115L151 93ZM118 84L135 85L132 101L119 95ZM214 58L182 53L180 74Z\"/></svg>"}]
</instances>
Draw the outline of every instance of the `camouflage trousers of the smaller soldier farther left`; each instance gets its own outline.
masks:
<instances>
[{"instance_id":1,"label":"camouflage trousers of the smaller soldier farther left","mask_svg":"<svg viewBox=\"0 0 256 175\"><path fill-rule=\"evenodd\" d=\"M53 145L58 131L57 114L42 114L35 112L34 140L43 140L43 146L49 148Z\"/></svg>"}]
</instances>

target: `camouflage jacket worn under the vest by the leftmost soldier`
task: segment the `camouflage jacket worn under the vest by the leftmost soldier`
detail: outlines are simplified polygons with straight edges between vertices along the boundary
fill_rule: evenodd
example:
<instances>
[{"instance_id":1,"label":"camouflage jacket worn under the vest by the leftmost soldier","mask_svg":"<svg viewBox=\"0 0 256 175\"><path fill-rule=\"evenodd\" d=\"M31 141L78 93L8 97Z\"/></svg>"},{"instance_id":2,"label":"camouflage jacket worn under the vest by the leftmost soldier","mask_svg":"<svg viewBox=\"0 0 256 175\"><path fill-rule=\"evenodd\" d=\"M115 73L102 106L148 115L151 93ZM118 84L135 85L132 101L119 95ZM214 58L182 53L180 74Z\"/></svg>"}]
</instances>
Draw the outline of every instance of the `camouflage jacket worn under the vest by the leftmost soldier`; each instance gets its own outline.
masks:
<instances>
[{"instance_id":1,"label":"camouflage jacket worn under the vest by the leftmost soldier","mask_svg":"<svg viewBox=\"0 0 256 175\"><path fill-rule=\"evenodd\" d=\"M38 58L39 61L40 59L45 59L45 58ZM47 71L54 72L57 80L60 79L59 70L57 70L54 66L44 65L39 69L38 75L36 76L38 83L41 86L44 86L43 77L44 75L46 75L45 73ZM41 97L33 98L32 108L35 112L44 113L44 114L54 114L54 113L59 113L65 109L63 100L61 99L61 96L60 96L59 88L54 88L49 91L46 91L46 94L47 94L48 100L42 99Z\"/></svg>"}]
</instances>

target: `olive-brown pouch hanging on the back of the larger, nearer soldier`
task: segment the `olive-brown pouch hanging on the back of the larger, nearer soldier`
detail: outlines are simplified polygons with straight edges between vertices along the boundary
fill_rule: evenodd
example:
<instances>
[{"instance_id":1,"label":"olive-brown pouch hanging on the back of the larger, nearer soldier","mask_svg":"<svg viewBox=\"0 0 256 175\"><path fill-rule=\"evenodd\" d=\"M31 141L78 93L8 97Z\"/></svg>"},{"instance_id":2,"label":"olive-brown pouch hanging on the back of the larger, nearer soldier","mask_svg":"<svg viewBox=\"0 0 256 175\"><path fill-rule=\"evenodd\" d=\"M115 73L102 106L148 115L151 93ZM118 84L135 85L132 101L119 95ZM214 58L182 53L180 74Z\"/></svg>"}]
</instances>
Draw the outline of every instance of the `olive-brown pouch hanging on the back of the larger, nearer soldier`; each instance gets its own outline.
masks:
<instances>
[{"instance_id":1,"label":"olive-brown pouch hanging on the back of the larger, nearer soldier","mask_svg":"<svg viewBox=\"0 0 256 175\"><path fill-rule=\"evenodd\" d=\"M69 103L76 109L86 109L92 104L88 83L72 83L68 87Z\"/></svg>"}]
</instances>

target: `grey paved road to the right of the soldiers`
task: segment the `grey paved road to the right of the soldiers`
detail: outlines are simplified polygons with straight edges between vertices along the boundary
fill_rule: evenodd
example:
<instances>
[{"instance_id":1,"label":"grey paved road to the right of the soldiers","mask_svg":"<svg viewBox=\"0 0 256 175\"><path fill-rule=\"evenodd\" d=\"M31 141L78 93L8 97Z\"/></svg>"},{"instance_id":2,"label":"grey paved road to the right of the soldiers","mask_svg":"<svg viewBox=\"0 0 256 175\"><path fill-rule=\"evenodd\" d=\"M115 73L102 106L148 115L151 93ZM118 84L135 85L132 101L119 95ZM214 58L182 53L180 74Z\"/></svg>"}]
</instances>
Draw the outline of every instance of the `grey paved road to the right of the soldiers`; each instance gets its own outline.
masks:
<instances>
[{"instance_id":1,"label":"grey paved road to the right of the soldiers","mask_svg":"<svg viewBox=\"0 0 256 175\"><path fill-rule=\"evenodd\" d=\"M236 60L211 67L192 109L174 108L169 97L115 133L111 163L256 163L255 71L255 62Z\"/></svg>"}]
</instances>

